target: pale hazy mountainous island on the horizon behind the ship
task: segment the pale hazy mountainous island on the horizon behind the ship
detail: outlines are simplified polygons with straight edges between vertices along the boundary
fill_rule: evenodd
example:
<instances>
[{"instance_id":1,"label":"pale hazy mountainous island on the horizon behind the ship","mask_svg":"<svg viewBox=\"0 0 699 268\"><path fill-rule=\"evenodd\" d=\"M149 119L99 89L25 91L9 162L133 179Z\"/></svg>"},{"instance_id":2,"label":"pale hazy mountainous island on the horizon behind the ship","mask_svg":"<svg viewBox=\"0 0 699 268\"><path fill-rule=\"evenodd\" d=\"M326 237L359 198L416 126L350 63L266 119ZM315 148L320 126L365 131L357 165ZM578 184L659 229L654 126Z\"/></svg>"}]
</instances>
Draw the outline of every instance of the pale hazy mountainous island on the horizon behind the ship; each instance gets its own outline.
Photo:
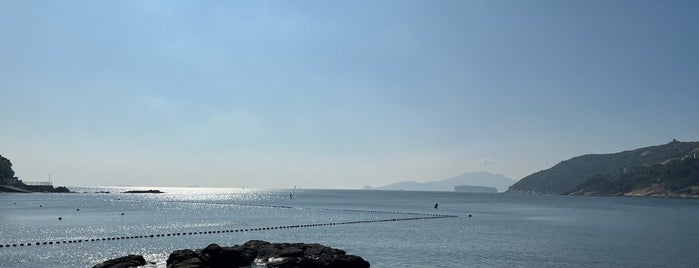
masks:
<instances>
[{"instance_id":1,"label":"pale hazy mountainous island on the horizon behind the ship","mask_svg":"<svg viewBox=\"0 0 699 268\"><path fill-rule=\"evenodd\" d=\"M488 172L469 172L460 176L441 181L415 182L402 181L389 185L371 188L375 190L405 190L405 191L449 191L453 192L455 186L486 186L495 187L499 192L507 190L507 187L515 181L500 174Z\"/></svg>"}]
</instances>

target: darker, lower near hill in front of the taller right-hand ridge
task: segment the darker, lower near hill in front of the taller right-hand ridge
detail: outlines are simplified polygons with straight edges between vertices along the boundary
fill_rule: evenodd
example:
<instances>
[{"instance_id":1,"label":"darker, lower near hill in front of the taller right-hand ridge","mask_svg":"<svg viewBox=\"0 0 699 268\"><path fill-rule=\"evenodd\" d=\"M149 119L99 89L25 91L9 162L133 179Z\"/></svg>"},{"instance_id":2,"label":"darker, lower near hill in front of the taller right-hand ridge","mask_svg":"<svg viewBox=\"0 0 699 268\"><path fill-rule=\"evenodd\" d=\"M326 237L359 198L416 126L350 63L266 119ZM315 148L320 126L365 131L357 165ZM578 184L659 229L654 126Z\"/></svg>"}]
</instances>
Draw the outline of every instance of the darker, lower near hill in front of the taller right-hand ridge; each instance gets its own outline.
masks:
<instances>
[{"instance_id":1,"label":"darker, lower near hill in front of the taller right-hand ridge","mask_svg":"<svg viewBox=\"0 0 699 268\"><path fill-rule=\"evenodd\" d=\"M595 175L569 194L699 197L699 159L686 158L627 173Z\"/></svg>"}]
</instances>

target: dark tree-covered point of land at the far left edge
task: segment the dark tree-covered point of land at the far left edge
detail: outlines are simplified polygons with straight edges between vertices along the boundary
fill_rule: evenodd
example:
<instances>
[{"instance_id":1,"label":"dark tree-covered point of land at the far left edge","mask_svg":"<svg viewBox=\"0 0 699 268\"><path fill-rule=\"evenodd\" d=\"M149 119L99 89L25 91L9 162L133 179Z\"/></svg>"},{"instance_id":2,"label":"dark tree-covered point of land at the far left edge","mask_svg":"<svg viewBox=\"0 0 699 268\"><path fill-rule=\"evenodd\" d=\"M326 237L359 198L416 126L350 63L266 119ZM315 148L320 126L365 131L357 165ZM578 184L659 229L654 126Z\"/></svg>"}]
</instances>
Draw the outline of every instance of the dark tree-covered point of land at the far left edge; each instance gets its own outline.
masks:
<instances>
[{"instance_id":1,"label":"dark tree-covered point of land at the far left edge","mask_svg":"<svg viewBox=\"0 0 699 268\"><path fill-rule=\"evenodd\" d=\"M53 187L51 182L23 182L15 177L12 162L0 155L0 192L10 193L69 193L66 187Z\"/></svg>"}]
</instances>

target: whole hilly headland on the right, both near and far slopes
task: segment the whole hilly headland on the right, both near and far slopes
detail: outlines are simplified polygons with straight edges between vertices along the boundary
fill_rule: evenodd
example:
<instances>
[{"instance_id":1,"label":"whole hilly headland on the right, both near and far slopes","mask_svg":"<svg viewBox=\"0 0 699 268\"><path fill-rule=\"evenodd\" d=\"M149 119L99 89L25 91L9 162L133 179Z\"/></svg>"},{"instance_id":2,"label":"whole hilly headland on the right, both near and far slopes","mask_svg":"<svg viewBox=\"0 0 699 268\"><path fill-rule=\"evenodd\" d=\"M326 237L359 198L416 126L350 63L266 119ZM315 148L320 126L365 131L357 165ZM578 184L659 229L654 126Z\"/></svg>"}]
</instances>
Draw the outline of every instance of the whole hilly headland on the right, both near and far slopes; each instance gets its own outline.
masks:
<instances>
[{"instance_id":1,"label":"whole hilly headland on the right, both near and far slopes","mask_svg":"<svg viewBox=\"0 0 699 268\"><path fill-rule=\"evenodd\" d=\"M508 193L699 197L699 142L673 140L571 158L524 177Z\"/></svg>"}]
</instances>

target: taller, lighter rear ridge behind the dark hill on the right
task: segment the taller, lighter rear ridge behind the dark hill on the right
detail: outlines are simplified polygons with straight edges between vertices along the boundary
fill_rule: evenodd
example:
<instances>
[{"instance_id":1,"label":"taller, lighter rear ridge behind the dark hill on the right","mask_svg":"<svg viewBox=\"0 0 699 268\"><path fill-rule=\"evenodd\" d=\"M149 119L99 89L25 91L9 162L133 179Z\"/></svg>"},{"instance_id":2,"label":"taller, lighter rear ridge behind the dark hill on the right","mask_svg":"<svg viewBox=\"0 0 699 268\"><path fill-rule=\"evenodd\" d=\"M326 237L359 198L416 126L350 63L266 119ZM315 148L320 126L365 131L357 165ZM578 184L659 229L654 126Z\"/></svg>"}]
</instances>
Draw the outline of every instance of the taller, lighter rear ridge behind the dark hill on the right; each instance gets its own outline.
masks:
<instances>
[{"instance_id":1,"label":"taller, lighter rear ridge behind the dark hill on the right","mask_svg":"<svg viewBox=\"0 0 699 268\"><path fill-rule=\"evenodd\" d=\"M619 153L578 156L522 178L507 192L568 193L593 175L632 172L642 167L683 159L689 155L699 156L699 142L673 140L664 145Z\"/></svg>"}]
</instances>

